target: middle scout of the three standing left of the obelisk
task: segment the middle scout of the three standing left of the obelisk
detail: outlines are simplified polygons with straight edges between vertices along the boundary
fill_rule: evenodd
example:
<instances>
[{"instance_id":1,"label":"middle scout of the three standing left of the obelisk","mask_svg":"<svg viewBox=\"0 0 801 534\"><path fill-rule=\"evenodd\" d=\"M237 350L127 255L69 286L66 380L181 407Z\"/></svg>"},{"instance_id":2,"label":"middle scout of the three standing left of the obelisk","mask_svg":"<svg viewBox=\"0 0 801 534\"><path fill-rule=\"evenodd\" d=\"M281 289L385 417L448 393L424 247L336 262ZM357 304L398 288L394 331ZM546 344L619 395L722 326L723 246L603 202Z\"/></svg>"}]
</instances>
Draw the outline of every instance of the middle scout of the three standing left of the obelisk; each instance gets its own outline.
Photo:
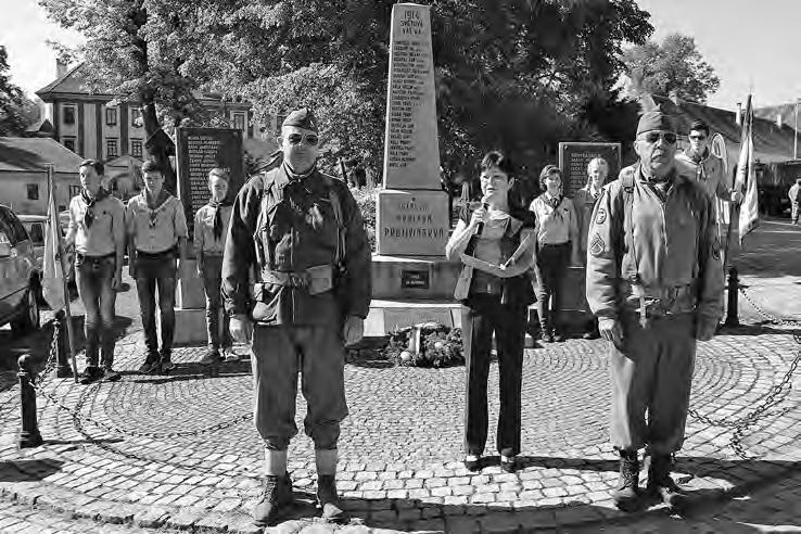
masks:
<instances>
[{"instance_id":1,"label":"middle scout of the three standing left of the obelisk","mask_svg":"<svg viewBox=\"0 0 801 534\"><path fill-rule=\"evenodd\" d=\"M148 354L140 372L169 371L175 334L175 285L186 268L187 217L183 204L164 189L164 176L153 161L142 165L144 190L128 201L128 270L137 281ZM176 264L176 260L180 263ZM162 348L158 349L155 308L158 289Z\"/></svg>"}]
</instances>

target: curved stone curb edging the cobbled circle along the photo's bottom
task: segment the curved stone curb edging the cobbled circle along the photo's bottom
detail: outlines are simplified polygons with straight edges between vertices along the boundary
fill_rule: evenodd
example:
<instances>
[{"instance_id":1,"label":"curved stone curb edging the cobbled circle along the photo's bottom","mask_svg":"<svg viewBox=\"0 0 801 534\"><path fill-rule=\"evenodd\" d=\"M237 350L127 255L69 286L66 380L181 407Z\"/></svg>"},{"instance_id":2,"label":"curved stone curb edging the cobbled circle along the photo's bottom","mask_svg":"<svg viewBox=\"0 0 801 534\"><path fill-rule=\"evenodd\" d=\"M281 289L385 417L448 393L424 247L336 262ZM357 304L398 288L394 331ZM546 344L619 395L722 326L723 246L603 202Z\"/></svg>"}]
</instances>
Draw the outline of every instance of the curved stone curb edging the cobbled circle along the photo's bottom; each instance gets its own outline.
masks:
<instances>
[{"instance_id":1,"label":"curved stone curb edging the cobbled circle along the photo's bottom","mask_svg":"<svg viewBox=\"0 0 801 534\"><path fill-rule=\"evenodd\" d=\"M18 470L18 468L17 468ZM24 471L21 470L21 473ZM774 482L792 476L801 472L801 461L796 461L787 470L758 480L743 482L729 488L717 488L704 492L703 497L694 500L689 511L702 510L717 504L745 496ZM40 482L20 481L0 482L0 498L13 503L43 508L58 513L66 513L75 518L96 521L99 524L127 524L141 529L168 527L175 530L219 533L279 533L298 532L307 526L317 526L315 531L322 531L326 523L316 519L289 521L283 524L262 529L251 522L244 513L220 513L202 508L192 507L158 507L135 504L124 504L113 500L96 499L79 492L72 492L55 485ZM400 527L400 532L492 532L511 534L518 532L552 531L570 526L589 527L593 525L626 525L648 517L669 516L665 507L658 507L640 512L624 514L616 510L597 510L581 506L543 507L532 511L509 511L486 507L484 512L469 510L465 514L461 507L445 505L427 505L422 508L409 507L406 499L390 500L389 507L370 510L369 501L364 507L352 507L353 511L366 512L369 526L360 524L331 525L338 532L346 533L391 533L398 532L393 527ZM374 507L373 507L374 508ZM292 529L292 525L296 529Z\"/></svg>"}]
</instances>

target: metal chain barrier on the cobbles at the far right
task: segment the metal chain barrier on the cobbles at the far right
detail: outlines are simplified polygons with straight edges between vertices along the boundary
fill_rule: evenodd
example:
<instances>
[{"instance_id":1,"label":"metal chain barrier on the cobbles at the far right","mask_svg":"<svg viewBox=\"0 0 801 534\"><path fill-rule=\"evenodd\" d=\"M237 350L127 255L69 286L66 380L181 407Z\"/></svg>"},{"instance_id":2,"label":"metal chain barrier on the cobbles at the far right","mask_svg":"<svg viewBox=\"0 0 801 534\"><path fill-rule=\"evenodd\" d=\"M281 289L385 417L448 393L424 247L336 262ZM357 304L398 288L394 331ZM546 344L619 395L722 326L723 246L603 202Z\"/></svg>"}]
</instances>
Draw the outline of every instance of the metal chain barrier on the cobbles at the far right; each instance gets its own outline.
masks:
<instances>
[{"instance_id":1,"label":"metal chain barrier on the cobbles at the far right","mask_svg":"<svg viewBox=\"0 0 801 534\"><path fill-rule=\"evenodd\" d=\"M742 296L746 298L746 301L748 301L748 303L751 306L753 306L753 308L760 315L762 315L764 318L771 321L771 323L781 326L781 327L801 326L801 321L792 320L792 319L783 319L780 317L776 317L767 313L762 306L760 306L756 302L754 302L754 300L746 292L745 288L739 287L738 289L739 289L739 292L742 294ZM801 333L793 332L792 338L796 341L796 343L801 344ZM704 424L709 424L710 427L721 427L721 428L733 429L732 437L729 438L729 445L734 449L735 454L737 454L737 456L739 456L742 459L747 459L748 455L746 454L746 450L742 446L742 437L746 431L750 427L753 427L754 424L756 424L759 421L763 419L766 419L768 417L781 417L793 408L790 406L790 407L786 407L779 410L768 411L770 408L773 408L776 405L778 405L787 396L787 393L789 392L789 389L791 387L790 380L792 379L792 376L798 369L799 365L801 365L801 348L799 348L798 353L796 354L796 357L790 364L789 369L787 370L785 376L781 378L779 383L771 387L771 390L765 394L765 396L762 398L762 400L760 402L759 406L756 406L756 408L752 409L750 412L748 412L747 415L742 417L739 417L736 419L713 419L713 418L699 414L697 410L692 408L688 410L688 414L694 419ZM788 390L788 391L785 391L785 390Z\"/></svg>"}]
</instances>

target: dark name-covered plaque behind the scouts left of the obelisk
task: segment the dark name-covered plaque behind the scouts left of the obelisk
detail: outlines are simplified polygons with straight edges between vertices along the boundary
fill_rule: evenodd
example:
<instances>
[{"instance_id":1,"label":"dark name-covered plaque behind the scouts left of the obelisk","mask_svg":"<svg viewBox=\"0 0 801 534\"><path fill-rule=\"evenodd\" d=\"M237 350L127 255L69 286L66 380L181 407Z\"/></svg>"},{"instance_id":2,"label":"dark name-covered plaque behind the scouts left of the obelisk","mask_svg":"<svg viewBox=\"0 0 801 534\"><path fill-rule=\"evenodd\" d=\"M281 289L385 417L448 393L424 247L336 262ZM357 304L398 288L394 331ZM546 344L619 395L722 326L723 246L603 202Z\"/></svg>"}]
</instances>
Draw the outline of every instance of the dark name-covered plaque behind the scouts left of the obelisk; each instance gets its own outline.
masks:
<instances>
[{"instance_id":1,"label":"dark name-covered plaque behind the scouts left of the obelisk","mask_svg":"<svg viewBox=\"0 0 801 534\"><path fill-rule=\"evenodd\" d=\"M228 169L228 196L233 199L244 183L242 131L230 128L178 128L178 198L183 202L187 223L208 202L208 171Z\"/></svg>"}]
</instances>

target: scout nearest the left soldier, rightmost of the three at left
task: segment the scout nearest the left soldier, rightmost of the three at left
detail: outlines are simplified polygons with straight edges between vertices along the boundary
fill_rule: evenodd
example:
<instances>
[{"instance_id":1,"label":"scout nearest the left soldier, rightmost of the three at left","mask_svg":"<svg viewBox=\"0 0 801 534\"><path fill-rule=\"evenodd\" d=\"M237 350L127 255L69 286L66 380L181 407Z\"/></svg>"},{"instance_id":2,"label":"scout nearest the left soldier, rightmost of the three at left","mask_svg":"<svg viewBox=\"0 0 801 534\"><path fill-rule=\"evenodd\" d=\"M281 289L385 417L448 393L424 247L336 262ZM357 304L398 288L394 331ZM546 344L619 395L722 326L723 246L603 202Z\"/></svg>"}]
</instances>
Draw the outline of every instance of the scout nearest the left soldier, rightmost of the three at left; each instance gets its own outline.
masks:
<instances>
[{"instance_id":1,"label":"scout nearest the left soldier, rightmost of the three at left","mask_svg":"<svg viewBox=\"0 0 801 534\"><path fill-rule=\"evenodd\" d=\"M223 274L223 253L226 236L231 221L233 203L228 200L228 182L230 176L221 168L208 173L208 190L212 199L208 204L194 214L194 255L198 259L198 276L203 279L206 293L206 330L208 351L202 364L217 364L221 360L237 361L231 351L231 333L229 316L223 317L223 339L220 340L219 313L221 310L220 280ZM220 354L220 349L223 353Z\"/></svg>"}]
</instances>

